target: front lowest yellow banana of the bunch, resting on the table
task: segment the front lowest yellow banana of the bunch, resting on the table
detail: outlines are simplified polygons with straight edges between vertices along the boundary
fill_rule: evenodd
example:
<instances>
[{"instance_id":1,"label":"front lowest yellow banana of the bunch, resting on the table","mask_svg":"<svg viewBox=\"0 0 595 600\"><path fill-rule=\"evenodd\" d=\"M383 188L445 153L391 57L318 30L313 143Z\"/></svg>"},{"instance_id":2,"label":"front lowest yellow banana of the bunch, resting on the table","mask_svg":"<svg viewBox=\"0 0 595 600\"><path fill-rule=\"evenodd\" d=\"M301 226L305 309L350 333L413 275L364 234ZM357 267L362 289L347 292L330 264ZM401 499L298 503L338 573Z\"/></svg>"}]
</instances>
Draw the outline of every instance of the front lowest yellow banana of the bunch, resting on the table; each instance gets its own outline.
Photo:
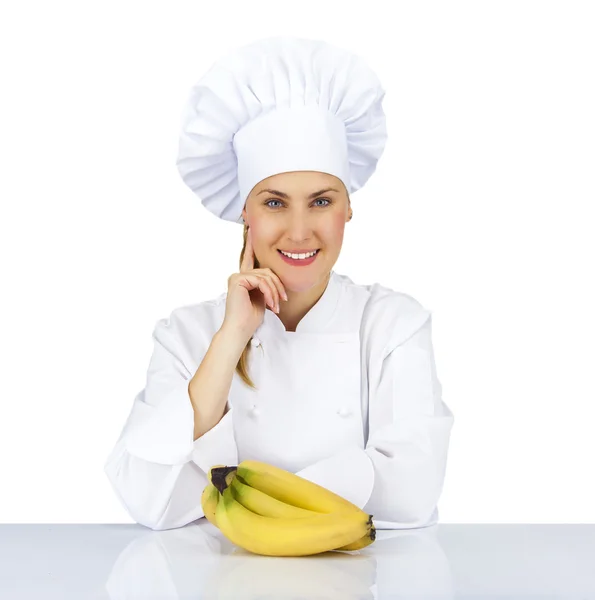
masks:
<instances>
[{"instance_id":1,"label":"front lowest yellow banana of the bunch, resting on the table","mask_svg":"<svg viewBox=\"0 0 595 600\"><path fill-rule=\"evenodd\" d=\"M266 556L308 556L351 544L373 527L363 511L281 519L258 515L240 504L228 485L216 509L217 526L233 544Z\"/></svg>"}]
</instances>

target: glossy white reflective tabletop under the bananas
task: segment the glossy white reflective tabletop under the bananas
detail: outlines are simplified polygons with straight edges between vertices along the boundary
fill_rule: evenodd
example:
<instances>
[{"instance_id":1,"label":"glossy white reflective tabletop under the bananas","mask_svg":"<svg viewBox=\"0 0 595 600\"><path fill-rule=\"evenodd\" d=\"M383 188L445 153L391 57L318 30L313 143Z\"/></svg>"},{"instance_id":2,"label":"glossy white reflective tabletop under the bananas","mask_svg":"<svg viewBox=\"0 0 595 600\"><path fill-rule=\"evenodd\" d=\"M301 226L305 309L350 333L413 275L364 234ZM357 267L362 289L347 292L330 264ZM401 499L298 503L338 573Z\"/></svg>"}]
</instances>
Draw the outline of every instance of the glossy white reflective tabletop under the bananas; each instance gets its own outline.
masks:
<instances>
[{"instance_id":1,"label":"glossy white reflective tabletop under the bananas","mask_svg":"<svg viewBox=\"0 0 595 600\"><path fill-rule=\"evenodd\" d=\"M0 524L0 598L595 599L595 525L441 524L377 532L358 552L268 557L204 518Z\"/></svg>"}]
</instances>

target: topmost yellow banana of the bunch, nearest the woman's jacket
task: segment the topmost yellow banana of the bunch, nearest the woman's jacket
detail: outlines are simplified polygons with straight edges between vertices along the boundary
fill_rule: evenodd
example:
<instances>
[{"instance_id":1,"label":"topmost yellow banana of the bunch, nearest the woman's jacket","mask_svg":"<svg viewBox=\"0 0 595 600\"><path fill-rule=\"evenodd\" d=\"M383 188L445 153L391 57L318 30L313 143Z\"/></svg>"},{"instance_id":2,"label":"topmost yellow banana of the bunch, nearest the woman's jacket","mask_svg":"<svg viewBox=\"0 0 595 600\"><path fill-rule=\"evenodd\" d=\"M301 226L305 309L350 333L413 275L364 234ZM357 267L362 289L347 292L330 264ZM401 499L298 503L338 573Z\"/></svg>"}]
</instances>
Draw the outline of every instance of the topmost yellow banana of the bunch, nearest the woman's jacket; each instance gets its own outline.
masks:
<instances>
[{"instance_id":1,"label":"topmost yellow banana of the bunch, nearest the woman's jacket","mask_svg":"<svg viewBox=\"0 0 595 600\"><path fill-rule=\"evenodd\" d=\"M268 463L244 460L237 467L237 476L241 483L298 508L318 513L348 511L366 514L331 490Z\"/></svg>"}]
</instances>

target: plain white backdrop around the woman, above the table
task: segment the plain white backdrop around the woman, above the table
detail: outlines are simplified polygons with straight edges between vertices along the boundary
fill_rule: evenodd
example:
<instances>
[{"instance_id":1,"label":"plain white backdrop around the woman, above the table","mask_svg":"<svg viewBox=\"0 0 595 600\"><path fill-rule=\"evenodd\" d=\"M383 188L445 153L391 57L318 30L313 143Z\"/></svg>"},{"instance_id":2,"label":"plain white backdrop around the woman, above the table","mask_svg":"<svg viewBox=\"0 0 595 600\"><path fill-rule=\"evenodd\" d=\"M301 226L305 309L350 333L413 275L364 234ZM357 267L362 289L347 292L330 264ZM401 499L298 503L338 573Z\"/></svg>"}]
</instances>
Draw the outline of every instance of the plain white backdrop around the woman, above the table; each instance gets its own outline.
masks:
<instances>
[{"instance_id":1,"label":"plain white backdrop around the woman, above the table","mask_svg":"<svg viewBox=\"0 0 595 600\"><path fill-rule=\"evenodd\" d=\"M2 6L0 522L133 522L103 466L153 327L226 291L242 246L177 172L182 107L276 34L387 90L334 269L433 313L440 522L595 522L592 2Z\"/></svg>"}]
</instances>

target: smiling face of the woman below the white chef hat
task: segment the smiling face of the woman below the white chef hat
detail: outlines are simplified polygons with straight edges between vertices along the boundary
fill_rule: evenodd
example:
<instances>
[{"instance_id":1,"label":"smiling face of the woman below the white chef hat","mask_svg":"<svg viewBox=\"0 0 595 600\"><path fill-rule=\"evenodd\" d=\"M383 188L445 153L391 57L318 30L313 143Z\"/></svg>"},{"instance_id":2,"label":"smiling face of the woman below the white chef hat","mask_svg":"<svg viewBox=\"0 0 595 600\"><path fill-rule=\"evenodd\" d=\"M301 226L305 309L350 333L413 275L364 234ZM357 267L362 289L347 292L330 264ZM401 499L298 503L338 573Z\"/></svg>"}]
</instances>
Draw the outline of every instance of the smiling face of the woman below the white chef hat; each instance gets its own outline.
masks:
<instances>
[{"instance_id":1,"label":"smiling face of the woman below the white chef hat","mask_svg":"<svg viewBox=\"0 0 595 600\"><path fill-rule=\"evenodd\" d=\"M265 190L283 192L287 197ZM317 193L321 190L326 191ZM328 278L341 252L350 214L343 182L318 171L292 171L263 179L250 192L242 211L261 268L270 268L285 287L295 292L308 290ZM317 249L316 258L308 266L291 265L279 253Z\"/></svg>"}]
</instances>

